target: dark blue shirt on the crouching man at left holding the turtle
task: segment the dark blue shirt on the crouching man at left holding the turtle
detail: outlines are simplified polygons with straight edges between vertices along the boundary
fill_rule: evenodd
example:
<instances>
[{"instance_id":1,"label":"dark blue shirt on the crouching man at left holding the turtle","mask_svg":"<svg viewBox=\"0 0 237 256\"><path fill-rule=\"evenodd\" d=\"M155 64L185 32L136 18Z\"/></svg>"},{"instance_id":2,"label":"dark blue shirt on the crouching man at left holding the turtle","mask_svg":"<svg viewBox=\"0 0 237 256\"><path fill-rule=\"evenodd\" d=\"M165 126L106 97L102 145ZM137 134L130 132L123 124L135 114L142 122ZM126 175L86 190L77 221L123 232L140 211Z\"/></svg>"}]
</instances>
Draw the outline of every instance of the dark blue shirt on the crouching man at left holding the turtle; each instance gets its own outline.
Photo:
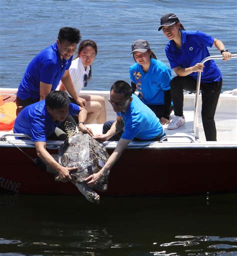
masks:
<instances>
[{"instance_id":1,"label":"dark blue shirt on the crouching man at left holding the turtle","mask_svg":"<svg viewBox=\"0 0 237 256\"><path fill-rule=\"evenodd\" d=\"M69 103L69 114L78 114L80 108L78 105ZM45 100L28 105L18 114L14 123L14 133L24 133L30 135L32 141L47 141L56 126L60 122L54 122L45 106Z\"/></svg>"}]
</instances>

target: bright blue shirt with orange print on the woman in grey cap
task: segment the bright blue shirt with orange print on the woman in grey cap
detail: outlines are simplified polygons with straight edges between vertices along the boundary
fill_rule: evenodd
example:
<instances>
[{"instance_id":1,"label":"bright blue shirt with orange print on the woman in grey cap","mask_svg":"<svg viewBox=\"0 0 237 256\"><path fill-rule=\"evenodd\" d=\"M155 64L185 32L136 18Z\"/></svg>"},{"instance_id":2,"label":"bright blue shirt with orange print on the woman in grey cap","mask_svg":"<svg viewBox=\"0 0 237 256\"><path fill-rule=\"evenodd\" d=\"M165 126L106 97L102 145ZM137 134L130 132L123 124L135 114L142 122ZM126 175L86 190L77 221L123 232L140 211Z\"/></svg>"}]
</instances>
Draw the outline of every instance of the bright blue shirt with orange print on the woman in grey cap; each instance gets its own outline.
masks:
<instances>
[{"instance_id":1,"label":"bright blue shirt with orange print on the woman in grey cap","mask_svg":"<svg viewBox=\"0 0 237 256\"><path fill-rule=\"evenodd\" d=\"M164 104L164 90L170 89L171 70L160 60L151 58L147 72L138 63L130 66L130 79L136 84L139 99L150 105Z\"/></svg>"}]
</instances>

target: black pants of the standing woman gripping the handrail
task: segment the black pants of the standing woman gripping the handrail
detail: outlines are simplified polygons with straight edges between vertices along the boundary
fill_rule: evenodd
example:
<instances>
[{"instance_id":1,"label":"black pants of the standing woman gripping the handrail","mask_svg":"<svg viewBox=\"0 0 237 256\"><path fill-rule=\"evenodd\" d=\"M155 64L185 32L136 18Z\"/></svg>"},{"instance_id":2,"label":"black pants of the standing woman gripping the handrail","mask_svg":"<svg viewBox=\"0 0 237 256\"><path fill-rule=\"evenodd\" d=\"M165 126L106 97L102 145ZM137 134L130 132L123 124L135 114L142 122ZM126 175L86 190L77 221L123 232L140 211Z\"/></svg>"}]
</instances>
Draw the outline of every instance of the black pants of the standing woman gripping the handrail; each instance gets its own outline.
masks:
<instances>
[{"instance_id":1,"label":"black pants of the standing woman gripping the handrail","mask_svg":"<svg viewBox=\"0 0 237 256\"><path fill-rule=\"evenodd\" d=\"M207 141L216 141L215 109L221 91L222 79L217 82L200 83L201 89L201 119ZM175 76L170 83L171 98L173 101L174 114L183 115L183 89L195 92L196 80L187 76Z\"/></svg>"}]
</instances>

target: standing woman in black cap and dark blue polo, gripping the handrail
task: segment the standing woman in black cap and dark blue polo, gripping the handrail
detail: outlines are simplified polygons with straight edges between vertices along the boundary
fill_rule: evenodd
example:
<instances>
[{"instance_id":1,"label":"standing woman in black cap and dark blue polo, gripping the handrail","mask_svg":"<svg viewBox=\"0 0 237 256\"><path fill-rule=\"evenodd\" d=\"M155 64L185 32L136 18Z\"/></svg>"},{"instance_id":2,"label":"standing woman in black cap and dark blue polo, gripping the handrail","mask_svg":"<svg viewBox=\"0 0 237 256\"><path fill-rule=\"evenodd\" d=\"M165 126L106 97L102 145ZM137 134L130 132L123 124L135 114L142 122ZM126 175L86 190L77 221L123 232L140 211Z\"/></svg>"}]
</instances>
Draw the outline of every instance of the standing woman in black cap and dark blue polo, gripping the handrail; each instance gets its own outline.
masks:
<instances>
[{"instance_id":1,"label":"standing woman in black cap and dark blue polo, gripping the handrail","mask_svg":"<svg viewBox=\"0 0 237 256\"><path fill-rule=\"evenodd\" d=\"M214 114L222 86L221 72L214 60L205 65L201 60L209 56L208 47L215 46L228 60L231 53L224 44L200 31L185 31L174 13L167 13L160 18L160 26L164 35L170 40L165 47L165 53L177 76L171 83L171 98L173 101L174 118L168 129L176 129L185 123L183 116L183 89L196 91L197 72L202 72L200 89L202 98L201 118L207 141L216 141Z\"/></svg>"}]
</instances>

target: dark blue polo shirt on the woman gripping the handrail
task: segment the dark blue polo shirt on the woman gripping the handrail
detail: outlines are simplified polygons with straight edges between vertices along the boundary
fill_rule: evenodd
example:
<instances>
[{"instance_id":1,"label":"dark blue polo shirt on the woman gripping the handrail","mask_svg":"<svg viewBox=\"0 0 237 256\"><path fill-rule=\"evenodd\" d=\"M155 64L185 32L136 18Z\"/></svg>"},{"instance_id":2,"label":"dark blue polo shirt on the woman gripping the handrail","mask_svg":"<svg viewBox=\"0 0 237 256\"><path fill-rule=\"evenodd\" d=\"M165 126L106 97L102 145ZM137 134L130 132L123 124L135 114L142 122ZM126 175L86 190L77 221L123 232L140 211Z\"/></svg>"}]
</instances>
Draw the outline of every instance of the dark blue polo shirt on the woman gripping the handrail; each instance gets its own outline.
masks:
<instances>
[{"instance_id":1,"label":"dark blue polo shirt on the woman gripping the handrail","mask_svg":"<svg viewBox=\"0 0 237 256\"><path fill-rule=\"evenodd\" d=\"M210 55L207 46L211 47L213 45L214 38L212 36L200 31L180 30L180 32L182 39L181 48L178 49L173 40L170 40L165 47L165 53L171 68L194 66ZM208 83L220 80L221 72L214 60L206 61L204 66L201 72L201 82ZM192 72L189 75L197 79L197 72Z\"/></svg>"}]
</instances>

